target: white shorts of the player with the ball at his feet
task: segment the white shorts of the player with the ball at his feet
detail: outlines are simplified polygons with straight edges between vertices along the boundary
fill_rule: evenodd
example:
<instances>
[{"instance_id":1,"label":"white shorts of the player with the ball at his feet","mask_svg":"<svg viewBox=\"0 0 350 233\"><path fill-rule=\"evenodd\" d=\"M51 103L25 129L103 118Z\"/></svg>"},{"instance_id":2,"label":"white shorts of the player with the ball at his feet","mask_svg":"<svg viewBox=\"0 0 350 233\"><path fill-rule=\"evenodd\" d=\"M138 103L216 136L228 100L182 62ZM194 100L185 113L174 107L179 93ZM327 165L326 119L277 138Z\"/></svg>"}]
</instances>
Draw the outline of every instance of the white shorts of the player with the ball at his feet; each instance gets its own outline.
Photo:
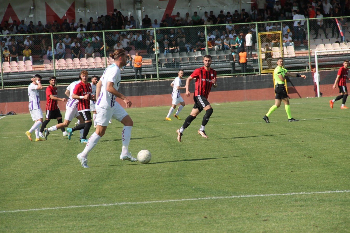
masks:
<instances>
[{"instance_id":1,"label":"white shorts of the player with the ball at his feet","mask_svg":"<svg viewBox=\"0 0 350 233\"><path fill-rule=\"evenodd\" d=\"M108 126L110 119L116 119L117 121L123 120L124 117L128 115L128 113L124 110L122 106L118 102L114 105L113 108L102 108L100 106L96 106L96 124L100 126Z\"/></svg>"}]
</instances>

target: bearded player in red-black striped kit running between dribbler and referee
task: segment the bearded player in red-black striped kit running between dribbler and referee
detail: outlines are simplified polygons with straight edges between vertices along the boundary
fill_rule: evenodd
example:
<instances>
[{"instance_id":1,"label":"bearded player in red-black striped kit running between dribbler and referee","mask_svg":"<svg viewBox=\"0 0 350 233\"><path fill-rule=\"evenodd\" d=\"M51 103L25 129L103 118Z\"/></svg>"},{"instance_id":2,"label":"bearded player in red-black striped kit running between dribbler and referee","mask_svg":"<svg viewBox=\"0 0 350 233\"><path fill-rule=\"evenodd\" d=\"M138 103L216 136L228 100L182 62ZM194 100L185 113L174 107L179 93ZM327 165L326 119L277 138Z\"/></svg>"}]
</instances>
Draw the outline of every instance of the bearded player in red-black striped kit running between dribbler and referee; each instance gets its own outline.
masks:
<instances>
[{"instance_id":1,"label":"bearded player in red-black striped kit running between dribbler and referee","mask_svg":"<svg viewBox=\"0 0 350 233\"><path fill-rule=\"evenodd\" d=\"M186 96L191 96L189 91L190 82L192 79L196 79L195 93L193 96L195 104L193 105L192 111L186 118L182 127L176 130L177 141L179 142L181 142L183 130L185 130L203 110L205 110L205 114L202 120L201 128L198 130L198 134L200 134L202 137L208 138L207 134L205 134L204 128L205 125L207 125L211 114L213 113L213 109L208 101L208 96L211 86L217 87L216 71L210 68L211 62L211 56L205 55L203 57L204 66L195 69L195 71L193 71L190 77L188 77L186 80Z\"/></svg>"}]
</instances>

